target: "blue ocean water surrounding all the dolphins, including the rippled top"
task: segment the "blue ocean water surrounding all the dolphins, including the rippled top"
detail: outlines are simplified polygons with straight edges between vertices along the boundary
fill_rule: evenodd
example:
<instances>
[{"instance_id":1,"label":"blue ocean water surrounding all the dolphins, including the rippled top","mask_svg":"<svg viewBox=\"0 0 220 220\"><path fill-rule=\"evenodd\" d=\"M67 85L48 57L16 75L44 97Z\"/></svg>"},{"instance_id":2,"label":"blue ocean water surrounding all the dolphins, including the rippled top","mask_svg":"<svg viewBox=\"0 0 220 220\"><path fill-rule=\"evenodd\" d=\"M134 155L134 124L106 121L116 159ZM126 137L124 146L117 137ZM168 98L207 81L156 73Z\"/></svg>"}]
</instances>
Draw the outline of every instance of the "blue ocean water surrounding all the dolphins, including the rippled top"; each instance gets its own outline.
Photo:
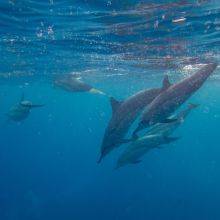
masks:
<instances>
[{"instance_id":1,"label":"blue ocean water surrounding all the dolphins, including the rippled top","mask_svg":"<svg viewBox=\"0 0 220 220\"><path fill-rule=\"evenodd\" d=\"M124 100L219 62L218 0L0 1L0 219L218 220L219 68L190 102L181 138L114 170L97 164L109 98L55 88L76 73ZM6 113L24 94L22 122Z\"/></svg>"}]
</instances>

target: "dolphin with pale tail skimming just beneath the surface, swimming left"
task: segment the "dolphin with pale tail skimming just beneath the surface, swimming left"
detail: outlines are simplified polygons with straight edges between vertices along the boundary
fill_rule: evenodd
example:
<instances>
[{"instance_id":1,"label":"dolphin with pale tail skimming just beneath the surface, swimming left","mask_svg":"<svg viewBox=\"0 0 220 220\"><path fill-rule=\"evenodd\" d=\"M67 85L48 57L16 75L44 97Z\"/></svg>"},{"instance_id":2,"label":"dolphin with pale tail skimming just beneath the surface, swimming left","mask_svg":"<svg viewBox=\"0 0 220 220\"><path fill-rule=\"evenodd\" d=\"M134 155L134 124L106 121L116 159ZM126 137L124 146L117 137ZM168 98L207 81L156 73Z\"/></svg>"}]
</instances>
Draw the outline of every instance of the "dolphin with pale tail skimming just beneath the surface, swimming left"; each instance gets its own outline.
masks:
<instances>
[{"instance_id":1,"label":"dolphin with pale tail skimming just beneath the surface, swimming left","mask_svg":"<svg viewBox=\"0 0 220 220\"><path fill-rule=\"evenodd\" d=\"M68 92L90 92L93 94L105 95L104 92L93 88L91 85L81 81L79 77L73 74L59 76L54 80L54 85Z\"/></svg>"}]
</instances>

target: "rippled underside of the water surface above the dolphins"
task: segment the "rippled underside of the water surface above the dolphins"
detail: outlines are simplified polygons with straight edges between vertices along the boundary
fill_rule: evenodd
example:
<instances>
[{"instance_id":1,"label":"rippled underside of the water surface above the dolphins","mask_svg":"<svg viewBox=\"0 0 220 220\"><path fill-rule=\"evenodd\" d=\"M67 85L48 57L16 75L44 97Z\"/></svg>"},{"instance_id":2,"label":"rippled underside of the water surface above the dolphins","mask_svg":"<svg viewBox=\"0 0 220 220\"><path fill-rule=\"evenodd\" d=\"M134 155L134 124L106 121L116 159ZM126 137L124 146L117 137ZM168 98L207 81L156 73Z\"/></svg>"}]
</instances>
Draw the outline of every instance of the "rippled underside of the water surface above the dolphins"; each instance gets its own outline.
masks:
<instances>
[{"instance_id":1,"label":"rippled underside of the water surface above the dolphins","mask_svg":"<svg viewBox=\"0 0 220 220\"><path fill-rule=\"evenodd\" d=\"M1 74L147 72L219 60L219 17L218 0L2 1Z\"/></svg>"}]
</instances>

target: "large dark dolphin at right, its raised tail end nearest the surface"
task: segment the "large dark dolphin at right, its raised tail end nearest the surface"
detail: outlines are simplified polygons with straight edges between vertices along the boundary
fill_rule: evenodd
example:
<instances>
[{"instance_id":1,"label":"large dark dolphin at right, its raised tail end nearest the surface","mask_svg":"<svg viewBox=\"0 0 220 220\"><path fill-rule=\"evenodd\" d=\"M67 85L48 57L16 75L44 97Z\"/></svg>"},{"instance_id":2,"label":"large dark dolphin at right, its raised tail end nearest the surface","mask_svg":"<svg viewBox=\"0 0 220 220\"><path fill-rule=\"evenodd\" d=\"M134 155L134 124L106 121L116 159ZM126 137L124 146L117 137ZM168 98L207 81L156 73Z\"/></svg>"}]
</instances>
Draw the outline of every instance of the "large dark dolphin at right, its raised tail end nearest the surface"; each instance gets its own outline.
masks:
<instances>
[{"instance_id":1,"label":"large dark dolphin at right, its raised tail end nearest the surface","mask_svg":"<svg viewBox=\"0 0 220 220\"><path fill-rule=\"evenodd\" d=\"M216 63L206 64L192 76L176 84L170 84L144 109L133 137L137 138L137 133L150 125L174 121L175 119L168 117L203 85L216 67Z\"/></svg>"}]
</instances>

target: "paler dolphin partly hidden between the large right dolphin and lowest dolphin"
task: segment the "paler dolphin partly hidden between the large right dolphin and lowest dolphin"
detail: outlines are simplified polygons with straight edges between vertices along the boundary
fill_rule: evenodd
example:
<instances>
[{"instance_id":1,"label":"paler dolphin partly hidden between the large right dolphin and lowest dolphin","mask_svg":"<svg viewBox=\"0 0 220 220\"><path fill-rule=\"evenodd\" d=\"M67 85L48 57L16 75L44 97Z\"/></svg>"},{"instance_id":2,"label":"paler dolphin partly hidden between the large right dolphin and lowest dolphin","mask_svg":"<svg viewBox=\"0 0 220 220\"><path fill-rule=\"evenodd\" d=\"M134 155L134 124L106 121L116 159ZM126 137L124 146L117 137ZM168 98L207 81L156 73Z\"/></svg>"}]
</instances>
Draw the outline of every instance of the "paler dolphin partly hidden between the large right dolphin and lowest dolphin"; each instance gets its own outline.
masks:
<instances>
[{"instance_id":1,"label":"paler dolphin partly hidden between the large right dolphin and lowest dolphin","mask_svg":"<svg viewBox=\"0 0 220 220\"><path fill-rule=\"evenodd\" d=\"M188 114L198 106L199 105L192 103L188 104L186 109L180 111L177 115L173 115L170 117L170 119L175 118L173 122L155 124L147 131L146 134L147 135L160 134L163 136L171 135L174 132L174 130L176 130L185 121Z\"/></svg>"}]
</instances>

